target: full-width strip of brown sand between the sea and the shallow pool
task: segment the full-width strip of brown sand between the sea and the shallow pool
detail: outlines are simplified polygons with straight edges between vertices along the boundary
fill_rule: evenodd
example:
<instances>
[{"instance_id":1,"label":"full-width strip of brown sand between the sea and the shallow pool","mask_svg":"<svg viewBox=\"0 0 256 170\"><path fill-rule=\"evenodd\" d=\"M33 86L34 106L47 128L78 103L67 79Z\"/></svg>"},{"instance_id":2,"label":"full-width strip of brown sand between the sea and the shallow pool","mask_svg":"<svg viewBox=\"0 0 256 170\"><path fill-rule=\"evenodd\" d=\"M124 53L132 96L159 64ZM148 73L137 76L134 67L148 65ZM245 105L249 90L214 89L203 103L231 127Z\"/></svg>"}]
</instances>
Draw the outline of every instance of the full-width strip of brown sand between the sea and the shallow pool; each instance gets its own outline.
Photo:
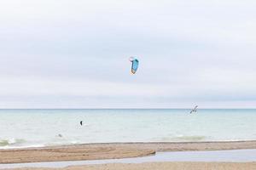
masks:
<instances>
[{"instance_id":1,"label":"full-width strip of brown sand between the sea and the shallow pool","mask_svg":"<svg viewBox=\"0 0 256 170\"><path fill-rule=\"evenodd\" d=\"M256 140L213 142L151 142L72 144L38 148L0 150L1 163L43 161L85 161L131 158L154 155L163 151L241 150L256 149Z\"/></svg>"}]
</instances>

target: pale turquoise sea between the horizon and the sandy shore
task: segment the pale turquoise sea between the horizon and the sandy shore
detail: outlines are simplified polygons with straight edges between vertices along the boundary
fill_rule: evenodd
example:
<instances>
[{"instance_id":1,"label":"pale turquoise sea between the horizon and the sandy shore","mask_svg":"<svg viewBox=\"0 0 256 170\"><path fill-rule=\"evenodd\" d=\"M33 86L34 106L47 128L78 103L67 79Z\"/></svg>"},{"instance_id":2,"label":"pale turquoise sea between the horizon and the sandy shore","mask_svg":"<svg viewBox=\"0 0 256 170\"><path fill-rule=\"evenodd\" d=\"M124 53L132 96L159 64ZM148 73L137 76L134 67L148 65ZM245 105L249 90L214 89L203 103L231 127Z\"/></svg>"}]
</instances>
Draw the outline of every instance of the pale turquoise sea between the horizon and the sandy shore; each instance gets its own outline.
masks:
<instances>
[{"instance_id":1,"label":"pale turquoise sea between the horizon and the sandy shore","mask_svg":"<svg viewBox=\"0 0 256 170\"><path fill-rule=\"evenodd\" d=\"M0 110L0 148L256 139L256 110L189 111Z\"/></svg>"}]
</instances>

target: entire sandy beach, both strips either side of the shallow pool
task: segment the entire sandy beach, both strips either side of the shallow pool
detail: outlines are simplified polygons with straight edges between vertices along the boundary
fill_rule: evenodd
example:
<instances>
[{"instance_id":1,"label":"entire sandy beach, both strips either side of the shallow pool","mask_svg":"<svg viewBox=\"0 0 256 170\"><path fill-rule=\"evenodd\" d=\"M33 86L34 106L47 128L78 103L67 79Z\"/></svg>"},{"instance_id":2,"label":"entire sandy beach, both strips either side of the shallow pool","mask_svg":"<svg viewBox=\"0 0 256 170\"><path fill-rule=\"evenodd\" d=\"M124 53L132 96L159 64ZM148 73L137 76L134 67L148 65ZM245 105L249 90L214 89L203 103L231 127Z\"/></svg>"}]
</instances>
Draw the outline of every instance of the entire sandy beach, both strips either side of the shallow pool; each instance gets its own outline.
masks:
<instances>
[{"instance_id":1,"label":"entire sandy beach, both strips either side of the shallow pool","mask_svg":"<svg viewBox=\"0 0 256 170\"><path fill-rule=\"evenodd\" d=\"M256 141L189 143L77 144L0 150L0 163L79 161L153 155L156 151L256 149ZM1 164L0 164L1 167ZM218 167L218 168L217 168ZM71 166L60 169L253 169L255 162L159 162ZM21 169L50 169L27 167Z\"/></svg>"}]
</instances>

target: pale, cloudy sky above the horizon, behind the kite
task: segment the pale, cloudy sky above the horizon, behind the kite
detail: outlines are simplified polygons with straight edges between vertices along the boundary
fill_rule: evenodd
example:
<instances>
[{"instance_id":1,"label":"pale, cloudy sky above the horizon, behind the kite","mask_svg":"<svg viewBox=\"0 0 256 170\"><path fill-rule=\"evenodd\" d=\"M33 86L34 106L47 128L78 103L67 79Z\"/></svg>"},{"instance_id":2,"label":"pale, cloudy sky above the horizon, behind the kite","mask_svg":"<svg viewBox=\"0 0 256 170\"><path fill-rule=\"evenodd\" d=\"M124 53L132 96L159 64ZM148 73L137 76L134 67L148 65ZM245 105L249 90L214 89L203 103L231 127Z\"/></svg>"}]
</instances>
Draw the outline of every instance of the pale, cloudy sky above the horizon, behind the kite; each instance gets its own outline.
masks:
<instances>
[{"instance_id":1,"label":"pale, cloudy sky above the horizon, behind the kite","mask_svg":"<svg viewBox=\"0 0 256 170\"><path fill-rule=\"evenodd\" d=\"M0 108L255 108L254 0L0 2ZM130 56L140 67L131 74Z\"/></svg>"}]
</instances>

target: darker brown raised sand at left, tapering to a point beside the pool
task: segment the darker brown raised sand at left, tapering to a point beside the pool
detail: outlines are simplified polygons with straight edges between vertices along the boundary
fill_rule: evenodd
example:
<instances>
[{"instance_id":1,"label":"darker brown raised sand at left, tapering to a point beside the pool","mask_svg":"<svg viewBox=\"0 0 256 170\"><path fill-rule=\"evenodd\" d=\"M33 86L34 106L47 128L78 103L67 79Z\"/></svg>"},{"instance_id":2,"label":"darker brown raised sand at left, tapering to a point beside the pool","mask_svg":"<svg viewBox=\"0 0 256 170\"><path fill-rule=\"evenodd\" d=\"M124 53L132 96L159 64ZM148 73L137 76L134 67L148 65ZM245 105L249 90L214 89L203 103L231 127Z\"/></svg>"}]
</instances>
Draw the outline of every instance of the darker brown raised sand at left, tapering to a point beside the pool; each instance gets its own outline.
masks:
<instances>
[{"instance_id":1,"label":"darker brown raised sand at left, tapering to a point beside the pool","mask_svg":"<svg viewBox=\"0 0 256 170\"><path fill-rule=\"evenodd\" d=\"M148 156L152 154L154 154L154 150L120 147L116 144L83 144L49 148L1 150L0 163L96 160Z\"/></svg>"}]
</instances>

